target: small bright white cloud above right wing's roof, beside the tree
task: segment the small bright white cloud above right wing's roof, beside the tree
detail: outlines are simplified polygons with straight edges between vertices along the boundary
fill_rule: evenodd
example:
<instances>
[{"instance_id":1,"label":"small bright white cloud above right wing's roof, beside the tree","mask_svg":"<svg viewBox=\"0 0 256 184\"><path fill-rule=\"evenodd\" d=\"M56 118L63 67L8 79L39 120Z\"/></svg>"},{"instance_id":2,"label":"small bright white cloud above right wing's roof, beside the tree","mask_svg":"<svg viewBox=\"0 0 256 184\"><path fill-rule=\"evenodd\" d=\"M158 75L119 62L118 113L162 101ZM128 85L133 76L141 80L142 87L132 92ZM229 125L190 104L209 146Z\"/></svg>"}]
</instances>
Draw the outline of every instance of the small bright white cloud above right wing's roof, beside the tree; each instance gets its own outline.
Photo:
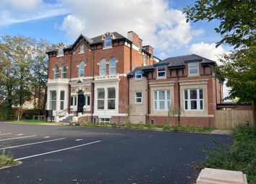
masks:
<instances>
[{"instance_id":1,"label":"small bright white cloud above right wing's roof, beside the tree","mask_svg":"<svg viewBox=\"0 0 256 184\"><path fill-rule=\"evenodd\" d=\"M218 61L223 53L227 53L225 49L220 45L216 48L216 43L194 43L190 46L189 51L191 53L198 54L205 58L210 58L213 61Z\"/></svg>"}]
</instances>

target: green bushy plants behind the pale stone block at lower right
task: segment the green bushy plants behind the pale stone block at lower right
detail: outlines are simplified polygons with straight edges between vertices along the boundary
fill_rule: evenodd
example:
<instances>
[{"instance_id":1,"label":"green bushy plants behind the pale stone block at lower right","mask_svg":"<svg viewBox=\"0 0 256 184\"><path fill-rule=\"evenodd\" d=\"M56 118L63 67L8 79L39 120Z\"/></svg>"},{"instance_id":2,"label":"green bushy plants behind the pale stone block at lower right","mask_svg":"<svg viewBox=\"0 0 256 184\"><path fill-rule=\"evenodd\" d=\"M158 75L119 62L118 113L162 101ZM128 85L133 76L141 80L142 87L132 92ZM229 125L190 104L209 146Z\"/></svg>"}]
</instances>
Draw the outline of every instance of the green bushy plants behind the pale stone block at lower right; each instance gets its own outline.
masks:
<instances>
[{"instance_id":1,"label":"green bushy plants behind the pale stone block at lower right","mask_svg":"<svg viewBox=\"0 0 256 184\"><path fill-rule=\"evenodd\" d=\"M208 159L201 167L223 170L239 170L247 174L249 183L256 183L256 130L247 126L238 126L232 133L233 144L222 145L213 139L215 146L207 149Z\"/></svg>"}]
</instances>

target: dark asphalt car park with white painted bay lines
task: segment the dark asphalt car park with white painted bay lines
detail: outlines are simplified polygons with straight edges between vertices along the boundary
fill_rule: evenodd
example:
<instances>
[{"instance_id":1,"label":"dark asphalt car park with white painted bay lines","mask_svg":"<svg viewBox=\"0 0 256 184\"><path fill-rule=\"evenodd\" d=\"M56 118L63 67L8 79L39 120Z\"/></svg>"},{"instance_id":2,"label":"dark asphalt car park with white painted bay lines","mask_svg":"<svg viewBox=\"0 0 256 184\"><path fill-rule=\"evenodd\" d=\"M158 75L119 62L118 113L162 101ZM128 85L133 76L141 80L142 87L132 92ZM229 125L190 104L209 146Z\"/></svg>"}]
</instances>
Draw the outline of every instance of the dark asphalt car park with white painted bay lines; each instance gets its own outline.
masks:
<instances>
[{"instance_id":1,"label":"dark asphalt car park with white painted bay lines","mask_svg":"<svg viewBox=\"0 0 256 184\"><path fill-rule=\"evenodd\" d=\"M0 153L22 165L0 183L194 183L202 151L226 135L0 123Z\"/></svg>"}]
</instances>

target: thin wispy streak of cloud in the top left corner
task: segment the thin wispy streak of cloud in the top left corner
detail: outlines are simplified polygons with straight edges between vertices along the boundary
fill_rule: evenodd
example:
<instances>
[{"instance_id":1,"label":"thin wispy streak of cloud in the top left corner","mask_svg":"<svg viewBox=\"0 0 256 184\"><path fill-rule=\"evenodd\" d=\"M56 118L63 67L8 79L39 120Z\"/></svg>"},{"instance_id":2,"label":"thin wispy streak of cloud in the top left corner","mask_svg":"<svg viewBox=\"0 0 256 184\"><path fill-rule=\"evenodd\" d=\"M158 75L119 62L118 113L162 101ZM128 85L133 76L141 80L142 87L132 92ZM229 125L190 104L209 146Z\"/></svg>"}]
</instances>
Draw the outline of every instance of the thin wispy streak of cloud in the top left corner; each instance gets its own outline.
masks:
<instances>
[{"instance_id":1,"label":"thin wispy streak of cloud in the top left corner","mask_svg":"<svg viewBox=\"0 0 256 184\"><path fill-rule=\"evenodd\" d=\"M0 27L68 13L61 4L46 4L41 0L4 0L0 5Z\"/></svg>"}]
</instances>

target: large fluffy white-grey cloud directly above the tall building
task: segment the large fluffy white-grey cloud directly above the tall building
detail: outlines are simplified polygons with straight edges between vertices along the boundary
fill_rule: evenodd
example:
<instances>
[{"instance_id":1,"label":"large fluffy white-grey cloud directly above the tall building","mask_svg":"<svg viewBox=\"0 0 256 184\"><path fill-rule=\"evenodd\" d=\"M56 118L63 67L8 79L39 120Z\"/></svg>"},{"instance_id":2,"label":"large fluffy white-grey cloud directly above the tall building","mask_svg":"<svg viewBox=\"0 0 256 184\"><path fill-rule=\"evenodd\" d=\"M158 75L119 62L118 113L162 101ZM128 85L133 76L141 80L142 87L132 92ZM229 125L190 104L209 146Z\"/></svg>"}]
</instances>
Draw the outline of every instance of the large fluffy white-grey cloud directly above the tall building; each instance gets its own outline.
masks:
<instances>
[{"instance_id":1,"label":"large fluffy white-grey cloud directly above the tall building","mask_svg":"<svg viewBox=\"0 0 256 184\"><path fill-rule=\"evenodd\" d=\"M92 38L108 31L127 36L133 30L144 45L152 45L161 56L166 56L203 33L201 29L192 29L184 14L171 9L165 0L77 0L76 3L59 0L59 3L70 9L61 25L70 40L80 33Z\"/></svg>"}]
</instances>

